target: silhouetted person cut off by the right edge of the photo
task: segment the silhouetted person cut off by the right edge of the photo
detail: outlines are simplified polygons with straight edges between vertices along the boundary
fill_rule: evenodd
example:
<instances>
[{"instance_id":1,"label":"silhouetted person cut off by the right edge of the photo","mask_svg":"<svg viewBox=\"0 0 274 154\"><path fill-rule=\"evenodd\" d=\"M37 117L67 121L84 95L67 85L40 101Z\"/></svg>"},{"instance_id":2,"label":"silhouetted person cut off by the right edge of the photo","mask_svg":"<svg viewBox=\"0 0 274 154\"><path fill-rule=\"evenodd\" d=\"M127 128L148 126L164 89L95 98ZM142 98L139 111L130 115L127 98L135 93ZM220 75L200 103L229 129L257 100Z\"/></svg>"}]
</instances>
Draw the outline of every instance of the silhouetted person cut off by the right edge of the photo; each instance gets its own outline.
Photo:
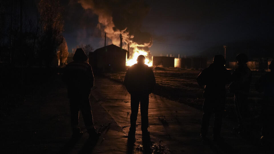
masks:
<instances>
[{"instance_id":1,"label":"silhouetted person cut off by the right edge of the photo","mask_svg":"<svg viewBox=\"0 0 274 154\"><path fill-rule=\"evenodd\" d=\"M274 139L274 60L269 65L271 72L261 76L256 84L256 89L263 92L262 101L262 131L261 142L265 146L273 147ZM272 142L272 143L271 143Z\"/></svg>"}]
</instances>

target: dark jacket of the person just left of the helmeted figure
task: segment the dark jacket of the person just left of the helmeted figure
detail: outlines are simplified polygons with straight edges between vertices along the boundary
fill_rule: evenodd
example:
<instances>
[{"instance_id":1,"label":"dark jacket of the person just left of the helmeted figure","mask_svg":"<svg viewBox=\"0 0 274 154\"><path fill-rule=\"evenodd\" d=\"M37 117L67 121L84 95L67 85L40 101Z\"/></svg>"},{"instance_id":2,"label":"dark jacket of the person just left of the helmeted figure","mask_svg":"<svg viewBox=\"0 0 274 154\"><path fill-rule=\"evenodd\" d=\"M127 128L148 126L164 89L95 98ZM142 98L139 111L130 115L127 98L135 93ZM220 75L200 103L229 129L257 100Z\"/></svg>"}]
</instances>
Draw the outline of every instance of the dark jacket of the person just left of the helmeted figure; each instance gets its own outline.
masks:
<instances>
[{"instance_id":1,"label":"dark jacket of the person just left of the helmeted figure","mask_svg":"<svg viewBox=\"0 0 274 154\"><path fill-rule=\"evenodd\" d=\"M231 74L225 66L210 64L197 77L200 86L205 86L205 98L225 98L225 85L231 82Z\"/></svg>"}]
</instances>

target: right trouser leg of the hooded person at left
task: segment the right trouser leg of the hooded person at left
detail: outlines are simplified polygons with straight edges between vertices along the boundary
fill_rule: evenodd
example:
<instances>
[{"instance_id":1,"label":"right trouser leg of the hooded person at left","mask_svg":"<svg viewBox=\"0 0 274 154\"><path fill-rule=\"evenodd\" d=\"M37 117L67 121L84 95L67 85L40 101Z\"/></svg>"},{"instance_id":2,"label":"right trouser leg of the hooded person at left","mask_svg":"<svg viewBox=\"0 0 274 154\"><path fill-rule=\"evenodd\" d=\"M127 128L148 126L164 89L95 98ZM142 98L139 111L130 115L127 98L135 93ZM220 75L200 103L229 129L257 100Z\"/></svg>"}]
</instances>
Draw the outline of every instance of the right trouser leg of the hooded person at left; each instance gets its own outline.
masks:
<instances>
[{"instance_id":1,"label":"right trouser leg of the hooded person at left","mask_svg":"<svg viewBox=\"0 0 274 154\"><path fill-rule=\"evenodd\" d=\"M86 129L88 130L88 133L90 133L89 131L94 130L95 128L94 128L94 124L93 124L92 111L91 111L90 102L89 102L88 97L84 98L82 100L80 110L81 110L82 115L83 115L83 119L84 119Z\"/></svg>"}]
</instances>

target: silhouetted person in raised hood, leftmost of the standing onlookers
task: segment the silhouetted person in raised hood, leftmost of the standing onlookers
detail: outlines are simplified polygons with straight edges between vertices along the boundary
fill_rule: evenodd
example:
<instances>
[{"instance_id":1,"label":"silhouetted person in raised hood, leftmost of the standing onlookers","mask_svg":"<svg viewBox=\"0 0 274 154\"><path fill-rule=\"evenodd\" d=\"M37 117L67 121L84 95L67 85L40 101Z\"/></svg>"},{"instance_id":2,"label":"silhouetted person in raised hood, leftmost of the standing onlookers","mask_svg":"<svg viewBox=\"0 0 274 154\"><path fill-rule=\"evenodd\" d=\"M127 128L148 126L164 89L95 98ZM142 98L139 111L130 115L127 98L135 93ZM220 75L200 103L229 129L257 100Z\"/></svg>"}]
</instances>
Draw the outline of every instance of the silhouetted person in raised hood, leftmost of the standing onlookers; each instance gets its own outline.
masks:
<instances>
[{"instance_id":1,"label":"silhouetted person in raised hood, leftmost of the standing onlookers","mask_svg":"<svg viewBox=\"0 0 274 154\"><path fill-rule=\"evenodd\" d=\"M68 88L72 137L77 138L83 134L78 127L79 110L81 110L89 137L96 139L100 134L94 128L89 101L90 90L94 86L92 68L86 63L87 56L81 48L75 51L73 60L67 64L63 74L63 80Z\"/></svg>"}]
</instances>

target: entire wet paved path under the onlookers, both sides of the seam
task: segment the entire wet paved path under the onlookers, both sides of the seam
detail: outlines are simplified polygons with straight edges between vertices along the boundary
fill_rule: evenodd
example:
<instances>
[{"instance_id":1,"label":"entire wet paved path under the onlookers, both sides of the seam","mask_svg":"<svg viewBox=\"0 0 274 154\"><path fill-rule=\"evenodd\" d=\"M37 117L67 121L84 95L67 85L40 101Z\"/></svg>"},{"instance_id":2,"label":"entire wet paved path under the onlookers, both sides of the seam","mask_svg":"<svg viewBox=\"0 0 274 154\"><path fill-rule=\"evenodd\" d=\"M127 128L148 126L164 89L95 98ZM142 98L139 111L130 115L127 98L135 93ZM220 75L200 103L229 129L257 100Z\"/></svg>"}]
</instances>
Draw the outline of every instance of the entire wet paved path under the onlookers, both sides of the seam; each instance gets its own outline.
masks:
<instances>
[{"instance_id":1,"label":"entire wet paved path under the onlookers, both sides of the seam","mask_svg":"<svg viewBox=\"0 0 274 154\"><path fill-rule=\"evenodd\" d=\"M59 81L57 81L59 82ZM41 87L14 109L0 128L1 153L259 153L251 143L233 133L236 123L223 121L223 142L200 139L202 111L150 94L148 110L150 137L143 138L140 112L136 142L127 143L130 127L130 94L107 78L95 77L90 97L96 129L102 134L97 143L88 141L80 114L82 137L73 141L66 88L56 84ZM139 110L140 111L140 110ZM212 121L211 121L212 125ZM211 138L212 126L209 127Z\"/></svg>"}]
</instances>

